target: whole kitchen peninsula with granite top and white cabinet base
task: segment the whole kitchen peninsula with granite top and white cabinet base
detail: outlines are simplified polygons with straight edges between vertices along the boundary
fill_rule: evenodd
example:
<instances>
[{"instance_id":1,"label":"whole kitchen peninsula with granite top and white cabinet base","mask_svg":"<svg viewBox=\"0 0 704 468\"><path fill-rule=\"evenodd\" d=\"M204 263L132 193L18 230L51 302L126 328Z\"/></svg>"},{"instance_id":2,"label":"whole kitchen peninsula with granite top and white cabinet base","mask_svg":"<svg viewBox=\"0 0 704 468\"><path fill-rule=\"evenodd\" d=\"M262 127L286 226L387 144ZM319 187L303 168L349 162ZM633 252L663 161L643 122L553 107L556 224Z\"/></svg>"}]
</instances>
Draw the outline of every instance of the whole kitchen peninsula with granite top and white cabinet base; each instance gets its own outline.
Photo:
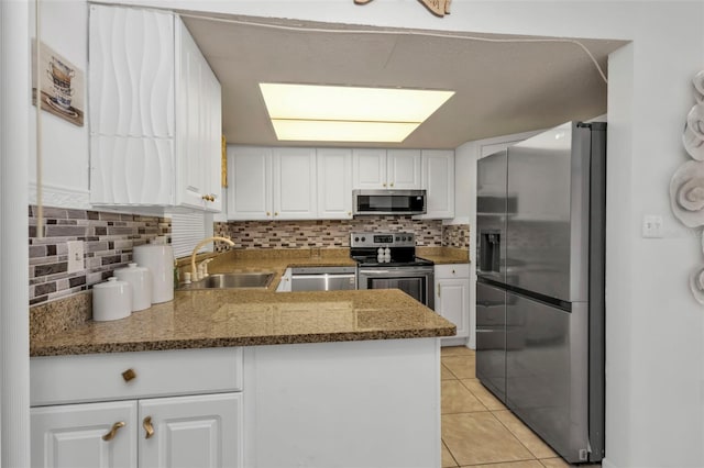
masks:
<instances>
[{"instance_id":1,"label":"whole kitchen peninsula with granite top and white cabinet base","mask_svg":"<svg viewBox=\"0 0 704 468\"><path fill-rule=\"evenodd\" d=\"M33 456L74 460L68 432L114 466L439 467L453 324L399 290L276 293L278 275L33 338Z\"/></svg>"}]
</instances>

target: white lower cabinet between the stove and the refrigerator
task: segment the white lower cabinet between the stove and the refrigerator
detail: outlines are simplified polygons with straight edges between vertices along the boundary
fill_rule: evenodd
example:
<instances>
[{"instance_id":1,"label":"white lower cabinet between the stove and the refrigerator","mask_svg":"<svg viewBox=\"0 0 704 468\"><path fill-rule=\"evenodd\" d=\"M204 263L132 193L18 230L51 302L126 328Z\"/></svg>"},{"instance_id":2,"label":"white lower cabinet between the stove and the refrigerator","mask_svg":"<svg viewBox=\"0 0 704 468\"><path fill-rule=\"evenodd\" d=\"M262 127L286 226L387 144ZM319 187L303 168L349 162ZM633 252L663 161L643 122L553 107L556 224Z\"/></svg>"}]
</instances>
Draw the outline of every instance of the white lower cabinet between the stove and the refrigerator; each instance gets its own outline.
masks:
<instances>
[{"instance_id":1,"label":"white lower cabinet between the stove and the refrigerator","mask_svg":"<svg viewBox=\"0 0 704 468\"><path fill-rule=\"evenodd\" d=\"M436 265L436 312L458 327L449 338L470 336L470 265Z\"/></svg>"}]
</instances>

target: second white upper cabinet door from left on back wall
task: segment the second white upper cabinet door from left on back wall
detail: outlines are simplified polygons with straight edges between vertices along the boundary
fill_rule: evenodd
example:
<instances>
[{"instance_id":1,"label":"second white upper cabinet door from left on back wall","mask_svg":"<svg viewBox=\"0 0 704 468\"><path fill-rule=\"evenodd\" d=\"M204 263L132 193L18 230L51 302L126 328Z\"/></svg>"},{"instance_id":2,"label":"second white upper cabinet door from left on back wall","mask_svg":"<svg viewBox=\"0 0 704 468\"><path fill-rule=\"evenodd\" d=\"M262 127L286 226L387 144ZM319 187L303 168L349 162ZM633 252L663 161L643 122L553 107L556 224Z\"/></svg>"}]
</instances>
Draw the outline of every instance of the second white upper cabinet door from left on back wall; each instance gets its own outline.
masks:
<instances>
[{"instance_id":1,"label":"second white upper cabinet door from left on back wall","mask_svg":"<svg viewBox=\"0 0 704 468\"><path fill-rule=\"evenodd\" d=\"M273 168L274 219L316 219L316 151L274 148Z\"/></svg>"}]
</instances>

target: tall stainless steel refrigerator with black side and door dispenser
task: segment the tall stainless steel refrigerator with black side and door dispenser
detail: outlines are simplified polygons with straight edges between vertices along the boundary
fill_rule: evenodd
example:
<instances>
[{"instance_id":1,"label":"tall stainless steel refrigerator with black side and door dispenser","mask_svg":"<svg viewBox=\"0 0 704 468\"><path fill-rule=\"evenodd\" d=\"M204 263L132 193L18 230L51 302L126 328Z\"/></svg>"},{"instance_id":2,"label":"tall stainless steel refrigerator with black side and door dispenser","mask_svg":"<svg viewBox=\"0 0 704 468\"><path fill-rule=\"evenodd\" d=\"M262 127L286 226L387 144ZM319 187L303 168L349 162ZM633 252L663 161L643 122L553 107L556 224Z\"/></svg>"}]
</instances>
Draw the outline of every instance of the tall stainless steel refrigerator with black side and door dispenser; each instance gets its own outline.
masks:
<instances>
[{"instance_id":1,"label":"tall stainless steel refrigerator with black side and door dispenser","mask_svg":"<svg viewBox=\"0 0 704 468\"><path fill-rule=\"evenodd\" d=\"M477 161L476 376L570 463L604 457L606 124Z\"/></svg>"}]
</instances>

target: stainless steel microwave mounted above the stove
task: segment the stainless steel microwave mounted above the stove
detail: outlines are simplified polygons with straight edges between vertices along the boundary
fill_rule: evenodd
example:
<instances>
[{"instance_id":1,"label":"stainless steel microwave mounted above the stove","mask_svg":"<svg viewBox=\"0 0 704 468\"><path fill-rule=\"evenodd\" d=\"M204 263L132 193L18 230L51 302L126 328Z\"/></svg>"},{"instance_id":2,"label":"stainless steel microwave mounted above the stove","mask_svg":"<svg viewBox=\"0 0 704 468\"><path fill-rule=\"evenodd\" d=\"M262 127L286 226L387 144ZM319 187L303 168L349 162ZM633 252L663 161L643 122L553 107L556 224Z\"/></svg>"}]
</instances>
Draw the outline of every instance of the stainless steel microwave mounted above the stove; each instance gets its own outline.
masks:
<instances>
[{"instance_id":1,"label":"stainless steel microwave mounted above the stove","mask_svg":"<svg viewBox=\"0 0 704 468\"><path fill-rule=\"evenodd\" d=\"M425 214L425 190L353 190L353 214Z\"/></svg>"}]
</instances>

